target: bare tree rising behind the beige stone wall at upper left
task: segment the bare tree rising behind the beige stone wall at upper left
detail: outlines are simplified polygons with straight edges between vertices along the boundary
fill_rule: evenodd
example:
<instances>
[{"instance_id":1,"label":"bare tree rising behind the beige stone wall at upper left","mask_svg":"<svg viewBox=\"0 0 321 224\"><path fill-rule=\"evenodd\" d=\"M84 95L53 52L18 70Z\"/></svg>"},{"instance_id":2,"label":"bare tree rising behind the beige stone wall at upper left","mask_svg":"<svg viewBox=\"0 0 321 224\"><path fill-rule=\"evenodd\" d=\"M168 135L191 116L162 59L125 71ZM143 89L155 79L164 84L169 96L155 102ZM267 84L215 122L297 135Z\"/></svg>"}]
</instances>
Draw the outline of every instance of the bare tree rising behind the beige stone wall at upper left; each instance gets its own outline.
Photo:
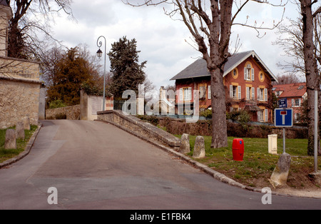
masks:
<instances>
[{"instance_id":1,"label":"bare tree rising behind the beige stone wall at upper left","mask_svg":"<svg viewBox=\"0 0 321 224\"><path fill-rule=\"evenodd\" d=\"M51 37L49 21L59 14L59 11L72 16L71 0L6 0L13 10L13 17L9 21L8 56L25 58L37 56L43 49L43 42L36 32L41 31ZM31 15L34 18L31 19ZM41 17L41 21L39 20Z\"/></svg>"}]
</instances>

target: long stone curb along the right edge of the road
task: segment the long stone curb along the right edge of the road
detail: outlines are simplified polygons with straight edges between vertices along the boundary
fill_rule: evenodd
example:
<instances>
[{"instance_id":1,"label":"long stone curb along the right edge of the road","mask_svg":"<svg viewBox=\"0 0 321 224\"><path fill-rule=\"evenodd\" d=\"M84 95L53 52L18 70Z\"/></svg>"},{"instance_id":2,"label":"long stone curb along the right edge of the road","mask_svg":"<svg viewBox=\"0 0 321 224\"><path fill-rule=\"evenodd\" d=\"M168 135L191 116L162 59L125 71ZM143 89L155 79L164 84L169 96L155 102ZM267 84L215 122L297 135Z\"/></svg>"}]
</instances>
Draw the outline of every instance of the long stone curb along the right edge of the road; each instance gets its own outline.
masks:
<instances>
[{"instance_id":1,"label":"long stone curb along the right edge of the road","mask_svg":"<svg viewBox=\"0 0 321 224\"><path fill-rule=\"evenodd\" d=\"M138 138L141 138L144 141L147 141L148 143L151 143L153 146L156 146L158 148L161 148L161 150L169 153L172 156L177 156L182 161L187 162L190 166L193 166L194 168L198 168L199 170L202 170L204 173L211 175L213 178L220 180L223 183L227 183L228 185L232 185L238 188L242 188L245 190L250 190L256 193L263 193L263 188L253 188L247 185L243 185L242 183L238 183L237 181L228 178L226 175L219 173L218 171L213 170L212 168L209 168L208 166L205 166L203 163L198 163L198 161L194 161L193 159L189 158L188 156L183 155L182 153L178 153L177 151L174 151L172 148L168 148L166 146L163 146L161 143L157 143L156 141L152 141L150 138L146 136L141 136L138 133L129 130L126 127L120 126L117 123L113 123L112 121L101 121L101 120L95 120L103 123L109 123L113 126L116 126L117 128L122 129L123 131L126 131L128 133L131 133L133 136L136 136ZM285 193L277 193L272 191L272 195L279 195L279 196L286 196L286 197L297 197L297 198L315 198L315 197L305 197L305 196L298 196L298 195L290 195ZM320 198L316 198L320 199Z\"/></svg>"}]
</instances>

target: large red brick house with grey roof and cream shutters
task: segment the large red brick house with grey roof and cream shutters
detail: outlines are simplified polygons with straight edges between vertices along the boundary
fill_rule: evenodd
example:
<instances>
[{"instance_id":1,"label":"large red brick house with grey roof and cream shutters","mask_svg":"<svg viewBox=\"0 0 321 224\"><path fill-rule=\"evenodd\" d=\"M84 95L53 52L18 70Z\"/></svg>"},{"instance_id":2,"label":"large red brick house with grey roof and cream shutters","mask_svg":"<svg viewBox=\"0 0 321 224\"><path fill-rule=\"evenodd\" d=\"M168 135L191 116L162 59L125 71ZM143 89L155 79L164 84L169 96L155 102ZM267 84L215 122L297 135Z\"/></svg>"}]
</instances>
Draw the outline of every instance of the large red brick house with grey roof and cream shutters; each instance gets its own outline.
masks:
<instances>
[{"instance_id":1,"label":"large red brick house with grey roof and cream shutters","mask_svg":"<svg viewBox=\"0 0 321 224\"><path fill-rule=\"evenodd\" d=\"M175 80L175 107L190 104L193 91L200 93L200 110L211 108L210 73L203 58L190 64L170 80ZM252 121L272 122L272 81L277 78L255 51L230 56L225 63L224 85L228 111L246 110Z\"/></svg>"}]
</instances>

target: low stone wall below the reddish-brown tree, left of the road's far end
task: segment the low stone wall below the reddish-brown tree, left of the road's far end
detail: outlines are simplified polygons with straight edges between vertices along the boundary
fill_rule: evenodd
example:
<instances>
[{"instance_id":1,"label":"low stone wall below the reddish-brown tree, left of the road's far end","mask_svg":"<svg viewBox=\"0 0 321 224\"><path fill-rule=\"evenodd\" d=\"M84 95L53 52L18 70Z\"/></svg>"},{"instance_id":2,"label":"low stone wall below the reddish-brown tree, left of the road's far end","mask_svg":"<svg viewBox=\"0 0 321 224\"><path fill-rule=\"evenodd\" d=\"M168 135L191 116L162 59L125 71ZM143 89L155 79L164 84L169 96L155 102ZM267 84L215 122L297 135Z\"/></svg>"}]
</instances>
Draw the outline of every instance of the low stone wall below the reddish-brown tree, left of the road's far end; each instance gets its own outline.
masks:
<instances>
[{"instance_id":1,"label":"low stone wall below the reddish-brown tree, left of the road's far end","mask_svg":"<svg viewBox=\"0 0 321 224\"><path fill-rule=\"evenodd\" d=\"M55 120L55 119L79 120L80 113L81 113L80 111L81 111L80 105L47 109L46 120Z\"/></svg>"}]
</instances>

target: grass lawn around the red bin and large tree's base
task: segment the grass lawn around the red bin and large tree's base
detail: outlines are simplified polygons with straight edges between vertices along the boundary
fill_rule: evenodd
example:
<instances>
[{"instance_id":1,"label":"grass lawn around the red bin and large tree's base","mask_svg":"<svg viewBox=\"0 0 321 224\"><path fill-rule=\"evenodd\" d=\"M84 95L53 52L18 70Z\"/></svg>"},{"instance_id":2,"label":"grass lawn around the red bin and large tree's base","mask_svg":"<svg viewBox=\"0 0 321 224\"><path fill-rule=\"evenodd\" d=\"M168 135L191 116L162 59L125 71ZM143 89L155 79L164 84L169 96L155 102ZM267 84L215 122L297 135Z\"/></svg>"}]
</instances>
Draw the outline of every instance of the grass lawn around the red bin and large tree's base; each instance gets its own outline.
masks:
<instances>
[{"instance_id":1,"label":"grass lawn around the red bin and large tree's base","mask_svg":"<svg viewBox=\"0 0 321 224\"><path fill-rule=\"evenodd\" d=\"M176 135L180 138L181 136ZM193 148L196 136L190 136L190 153L193 156ZM233 161L232 143L233 137L228 137L228 147L210 148L211 137L204 136L205 153L203 159L195 159L228 177L251 187L270 186L270 178L280 154L283 152L283 139L277 139L277 153L268 153L267 138L243 138L245 151L243 161ZM286 139L285 151L292 156L290 173L287 184L293 188L305 188L310 183L307 174L312 173L314 161L312 156L307 156L307 139ZM318 167L321 169L321 159L318 158ZM317 185L320 188L320 186Z\"/></svg>"}]
</instances>

